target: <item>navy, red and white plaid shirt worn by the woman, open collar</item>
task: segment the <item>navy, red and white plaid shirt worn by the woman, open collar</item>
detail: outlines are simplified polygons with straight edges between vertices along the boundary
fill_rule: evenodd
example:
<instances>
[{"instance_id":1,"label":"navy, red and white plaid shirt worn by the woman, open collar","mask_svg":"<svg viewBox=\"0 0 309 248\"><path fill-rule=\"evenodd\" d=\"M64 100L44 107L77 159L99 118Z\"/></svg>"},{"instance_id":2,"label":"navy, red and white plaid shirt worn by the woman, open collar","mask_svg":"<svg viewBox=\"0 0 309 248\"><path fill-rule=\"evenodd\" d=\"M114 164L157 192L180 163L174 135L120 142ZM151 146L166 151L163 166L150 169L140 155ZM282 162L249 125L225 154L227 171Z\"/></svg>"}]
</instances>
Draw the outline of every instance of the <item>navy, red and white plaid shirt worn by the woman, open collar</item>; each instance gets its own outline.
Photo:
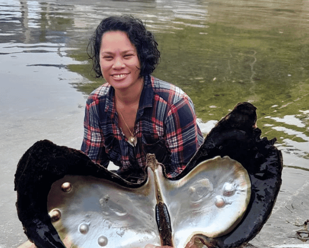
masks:
<instances>
[{"instance_id":1,"label":"navy, red and white plaid shirt worn by the woman, open collar","mask_svg":"<svg viewBox=\"0 0 309 248\"><path fill-rule=\"evenodd\" d=\"M114 89L105 83L88 97L81 150L93 161L107 167L119 166L117 173L131 181L144 178L146 154L155 154L169 177L179 174L196 153L204 138L196 122L194 105L179 87L145 77L131 146L118 126Z\"/></svg>"}]
</instances>

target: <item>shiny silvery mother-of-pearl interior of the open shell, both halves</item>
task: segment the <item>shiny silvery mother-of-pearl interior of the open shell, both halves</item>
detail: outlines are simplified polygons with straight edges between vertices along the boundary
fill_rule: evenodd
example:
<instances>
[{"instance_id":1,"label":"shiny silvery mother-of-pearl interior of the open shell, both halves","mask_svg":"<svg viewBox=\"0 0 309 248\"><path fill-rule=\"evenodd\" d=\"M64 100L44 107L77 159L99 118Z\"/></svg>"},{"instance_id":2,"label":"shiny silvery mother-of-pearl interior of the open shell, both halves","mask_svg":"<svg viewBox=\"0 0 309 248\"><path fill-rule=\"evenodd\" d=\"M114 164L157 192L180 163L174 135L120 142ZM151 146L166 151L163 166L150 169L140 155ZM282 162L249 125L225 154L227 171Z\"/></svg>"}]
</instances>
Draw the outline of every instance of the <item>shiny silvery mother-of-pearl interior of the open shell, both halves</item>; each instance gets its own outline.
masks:
<instances>
[{"instance_id":1,"label":"shiny silvery mother-of-pearl interior of the open shell, both halves","mask_svg":"<svg viewBox=\"0 0 309 248\"><path fill-rule=\"evenodd\" d=\"M169 213L172 245L183 248L196 234L229 233L245 213L251 196L249 175L228 157L202 162L177 181L167 179L162 166L151 167L146 183L133 189L92 176L66 175L54 182L47 209L61 213L53 222L57 232L65 230L63 237L68 234L74 245L84 248L100 248L100 237L105 248L160 246L155 217L156 204L162 201ZM69 192L63 190L65 183L71 185Z\"/></svg>"}]
</instances>

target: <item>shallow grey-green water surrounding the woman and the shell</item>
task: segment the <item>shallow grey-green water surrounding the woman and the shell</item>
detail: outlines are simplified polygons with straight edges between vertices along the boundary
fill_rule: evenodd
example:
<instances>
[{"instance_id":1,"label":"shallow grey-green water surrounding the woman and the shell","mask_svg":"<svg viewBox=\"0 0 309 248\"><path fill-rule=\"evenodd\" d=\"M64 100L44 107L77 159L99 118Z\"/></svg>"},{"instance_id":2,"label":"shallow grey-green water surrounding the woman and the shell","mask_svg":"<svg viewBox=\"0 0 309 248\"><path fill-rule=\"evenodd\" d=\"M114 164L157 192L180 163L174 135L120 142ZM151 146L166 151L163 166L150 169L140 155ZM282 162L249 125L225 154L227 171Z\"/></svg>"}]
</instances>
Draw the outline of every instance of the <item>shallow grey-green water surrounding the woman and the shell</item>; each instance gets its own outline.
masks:
<instances>
[{"instance_id":1,"label":"shallow grey-green water surrounding the woman and the shell","mask_svg":"<svg viewBox=\"0 0 309 248\"><path fill-rule=\"evenodd\" d=\"M88 38L122 13L154 32L154 76L190 95L205 133L238 102L258 108L284 169L274 211L250 243L307 244L296 230L309 219L308 0L0 0L0 248L26 239L13 191L22 154L40 139L80 148L85 97L103 83L90 74Z\"/></svg>"}]
</instances>

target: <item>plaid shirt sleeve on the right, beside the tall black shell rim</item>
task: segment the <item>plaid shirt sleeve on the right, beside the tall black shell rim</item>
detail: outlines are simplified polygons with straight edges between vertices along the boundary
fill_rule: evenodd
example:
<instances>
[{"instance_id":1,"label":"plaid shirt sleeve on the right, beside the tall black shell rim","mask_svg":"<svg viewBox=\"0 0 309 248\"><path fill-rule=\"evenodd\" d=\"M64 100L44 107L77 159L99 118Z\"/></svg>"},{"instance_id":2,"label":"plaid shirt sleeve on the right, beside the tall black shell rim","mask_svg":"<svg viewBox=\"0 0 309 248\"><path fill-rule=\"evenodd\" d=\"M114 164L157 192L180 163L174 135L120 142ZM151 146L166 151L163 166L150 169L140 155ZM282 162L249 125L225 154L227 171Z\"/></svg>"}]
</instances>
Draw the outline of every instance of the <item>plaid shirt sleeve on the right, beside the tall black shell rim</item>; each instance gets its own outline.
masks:
<instances>
[{"instance_id":1,"label":"plaid shirt sleeve on the right, beside the tall black shell rim","mask_svg":"<svg viewBox=\"0 0 309 248\"><path fill-rule=\"evenodd\" d=\"M171 152L171 167L167 172L174 177L186 167L204 141L189 96L171 105L165 126L166 145Z\"/></svg>"}]
</instances>

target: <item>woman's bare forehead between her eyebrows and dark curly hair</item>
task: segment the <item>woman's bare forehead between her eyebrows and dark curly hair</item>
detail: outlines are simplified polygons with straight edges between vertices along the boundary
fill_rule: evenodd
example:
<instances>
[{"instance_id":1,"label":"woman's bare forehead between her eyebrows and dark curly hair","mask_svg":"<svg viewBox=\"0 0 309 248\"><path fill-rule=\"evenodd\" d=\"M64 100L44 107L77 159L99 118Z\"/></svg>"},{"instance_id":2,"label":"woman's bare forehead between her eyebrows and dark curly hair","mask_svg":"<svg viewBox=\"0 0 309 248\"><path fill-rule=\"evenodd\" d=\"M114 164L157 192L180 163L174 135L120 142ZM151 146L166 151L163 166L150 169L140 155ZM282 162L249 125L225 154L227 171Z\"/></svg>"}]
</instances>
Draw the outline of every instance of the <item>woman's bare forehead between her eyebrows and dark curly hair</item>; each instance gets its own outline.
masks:
<instances>
[{"instance_id":1,"label":"woman's bare forehead between her eyebrows and dark curly hair","mask_svg":"<svg viewBox=\"0 0 309 248\"><path fill-rule=\"evenodd\" d=\"M136 51L128 35L123 31L107 31L103 33L101 40L101 52Z\"/></svg>"}]
</instances>

